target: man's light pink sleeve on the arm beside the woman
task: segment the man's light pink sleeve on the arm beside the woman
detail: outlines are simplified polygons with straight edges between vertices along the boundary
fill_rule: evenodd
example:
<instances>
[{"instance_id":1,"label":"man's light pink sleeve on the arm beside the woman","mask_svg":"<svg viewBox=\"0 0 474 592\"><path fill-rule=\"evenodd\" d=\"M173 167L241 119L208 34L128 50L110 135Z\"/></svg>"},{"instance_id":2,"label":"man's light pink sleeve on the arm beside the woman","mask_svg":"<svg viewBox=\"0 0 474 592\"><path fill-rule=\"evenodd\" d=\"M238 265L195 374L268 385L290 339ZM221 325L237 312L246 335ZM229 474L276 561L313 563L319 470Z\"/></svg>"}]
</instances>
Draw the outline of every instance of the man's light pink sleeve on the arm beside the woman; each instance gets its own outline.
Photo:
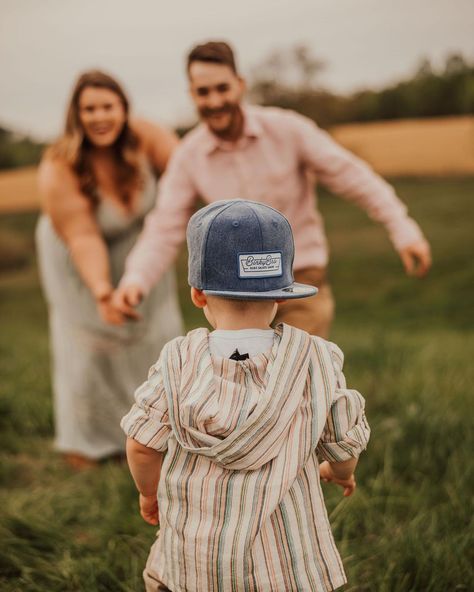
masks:
<instances>
[{"instance_id":1,"label":"man's light pink sleeve on the arm beside the woman","mask_svg":"<svg viewBox=\"0 0 474 592\"><path fill-rule=\"evenodd\" d=\"M120 286L138 284L145 293L173 263L197 199L183 146L173 153L158 186L155 207L125 262Z\"/></svg>"}]
</instances>

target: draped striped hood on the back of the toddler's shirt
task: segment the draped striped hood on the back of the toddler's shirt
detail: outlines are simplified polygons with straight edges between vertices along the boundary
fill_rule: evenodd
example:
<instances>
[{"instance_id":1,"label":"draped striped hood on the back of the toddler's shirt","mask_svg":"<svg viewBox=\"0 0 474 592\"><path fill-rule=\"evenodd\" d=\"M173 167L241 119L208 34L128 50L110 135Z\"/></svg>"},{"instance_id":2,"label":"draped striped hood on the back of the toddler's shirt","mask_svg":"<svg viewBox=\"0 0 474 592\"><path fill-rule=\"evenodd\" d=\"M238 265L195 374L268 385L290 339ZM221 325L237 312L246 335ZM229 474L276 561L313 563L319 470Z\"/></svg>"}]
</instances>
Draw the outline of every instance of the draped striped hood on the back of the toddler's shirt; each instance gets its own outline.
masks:
<instances>
[{"instance_id":1,"label":"draped striped hood on the back of the toddler's shirt","mask_svg":"<svg viewBox=\"0 0 474 592\"><path fill-rule=\"evenodd\" d=\"M303 403L312 349L311 337L288 325L276 328L270 352L244 361L211 357L207 329L174 342L163 375L179 444L228 469L272 460Z\"/></svg>"}]
</instances>

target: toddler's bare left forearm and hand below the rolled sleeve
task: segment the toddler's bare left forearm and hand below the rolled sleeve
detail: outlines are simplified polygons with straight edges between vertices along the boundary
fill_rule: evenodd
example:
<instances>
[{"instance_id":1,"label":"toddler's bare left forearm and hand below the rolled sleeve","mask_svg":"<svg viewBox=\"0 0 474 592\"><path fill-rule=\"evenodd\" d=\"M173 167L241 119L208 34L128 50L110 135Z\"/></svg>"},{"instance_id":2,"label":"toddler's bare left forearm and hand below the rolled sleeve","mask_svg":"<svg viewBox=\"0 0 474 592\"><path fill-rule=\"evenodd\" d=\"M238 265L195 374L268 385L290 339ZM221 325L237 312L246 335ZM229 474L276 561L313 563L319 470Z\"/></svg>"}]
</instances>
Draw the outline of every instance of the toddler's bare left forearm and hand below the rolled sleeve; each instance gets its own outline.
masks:
<instances>
[{"instance_id":1,"label":"toddler's bare left forearm and hand below the rolled sleeve","mask_svg":"<svg viewBox=\"0 0 474 592\"><path fill-rule=\"evenodd\" d=\"M140 492L140 514L148 524L157 525L157 490L163 453L127 438L127 460L135 485Z\"/></svg>"}]
</instances>

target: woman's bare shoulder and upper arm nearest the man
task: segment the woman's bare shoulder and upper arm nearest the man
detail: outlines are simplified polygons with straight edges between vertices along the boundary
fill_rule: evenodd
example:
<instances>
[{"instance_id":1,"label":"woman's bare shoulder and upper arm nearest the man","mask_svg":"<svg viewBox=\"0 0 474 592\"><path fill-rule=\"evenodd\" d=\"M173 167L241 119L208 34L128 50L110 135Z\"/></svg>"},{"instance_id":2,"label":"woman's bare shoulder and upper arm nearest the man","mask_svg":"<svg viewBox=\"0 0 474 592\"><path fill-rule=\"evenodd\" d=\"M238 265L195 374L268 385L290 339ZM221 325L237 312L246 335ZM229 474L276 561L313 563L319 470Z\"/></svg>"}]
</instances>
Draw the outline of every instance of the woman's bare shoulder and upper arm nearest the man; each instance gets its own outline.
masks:
<instances>
[{"instance_id":1,"label":"woman's bare shoulder and upper arm nearest the man","mask_svg":"<svg viewBox=\"0 0 474 592\"><path fill-rule=\"evenodd\" d=\"M178 136L173 131L145 119L133 119L131 127L138 134L148 160L162 173L171 153L179 143Z\"/></svg>"}]
</instances>

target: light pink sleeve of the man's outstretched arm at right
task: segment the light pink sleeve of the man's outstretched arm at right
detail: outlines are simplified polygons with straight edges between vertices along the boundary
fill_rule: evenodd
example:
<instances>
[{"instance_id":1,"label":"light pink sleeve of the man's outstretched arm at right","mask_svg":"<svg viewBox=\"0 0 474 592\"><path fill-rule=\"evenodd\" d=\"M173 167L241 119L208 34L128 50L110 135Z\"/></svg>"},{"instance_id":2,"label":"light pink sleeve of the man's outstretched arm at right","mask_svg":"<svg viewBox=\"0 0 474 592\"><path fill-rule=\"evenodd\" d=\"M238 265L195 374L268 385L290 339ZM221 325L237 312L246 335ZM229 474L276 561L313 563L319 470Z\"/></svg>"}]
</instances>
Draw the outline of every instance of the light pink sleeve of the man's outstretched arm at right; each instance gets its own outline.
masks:
<instances>
[{"instance_id":1,"label":"light pink sleeve of the man's outstretched arm at right","mask_svg":"<svg viewBox=\"0 0 474 592\"><path fill-rule=\"evenodd\" d=\"M316 173L319 182L383 224L396 249L424 240L393 187L367 163L340 146L310 119L297 113L288 116L292 119L299 156Z\"/></svg>"}]
</instances>

